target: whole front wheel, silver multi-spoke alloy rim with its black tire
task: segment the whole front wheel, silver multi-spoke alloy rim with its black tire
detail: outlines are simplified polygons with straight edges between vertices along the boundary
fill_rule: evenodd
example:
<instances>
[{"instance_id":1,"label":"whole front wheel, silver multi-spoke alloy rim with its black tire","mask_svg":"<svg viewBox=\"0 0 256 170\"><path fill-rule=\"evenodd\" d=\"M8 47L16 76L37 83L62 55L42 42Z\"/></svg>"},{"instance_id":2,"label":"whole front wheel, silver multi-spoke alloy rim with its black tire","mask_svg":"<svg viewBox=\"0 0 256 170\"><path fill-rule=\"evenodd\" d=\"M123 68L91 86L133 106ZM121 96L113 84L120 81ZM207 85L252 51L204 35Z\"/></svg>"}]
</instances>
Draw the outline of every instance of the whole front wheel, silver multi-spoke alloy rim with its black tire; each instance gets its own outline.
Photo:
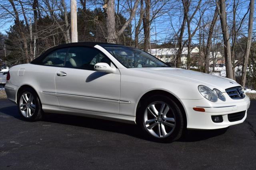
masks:
<instances>
[{"instance_id":1,"label":"whole front wheel, silver multi-spoke alloy rim with its black tire","mask_svg":"<svg viewBox=\"0 0 256 170\"><path fill-rule=\"evenodd\" d=\"M172 142L180 138L184 119L179 106L169 97L155 95L142 103L138 123L145 134L157 142Z\"/></svg>"}]
</instances>

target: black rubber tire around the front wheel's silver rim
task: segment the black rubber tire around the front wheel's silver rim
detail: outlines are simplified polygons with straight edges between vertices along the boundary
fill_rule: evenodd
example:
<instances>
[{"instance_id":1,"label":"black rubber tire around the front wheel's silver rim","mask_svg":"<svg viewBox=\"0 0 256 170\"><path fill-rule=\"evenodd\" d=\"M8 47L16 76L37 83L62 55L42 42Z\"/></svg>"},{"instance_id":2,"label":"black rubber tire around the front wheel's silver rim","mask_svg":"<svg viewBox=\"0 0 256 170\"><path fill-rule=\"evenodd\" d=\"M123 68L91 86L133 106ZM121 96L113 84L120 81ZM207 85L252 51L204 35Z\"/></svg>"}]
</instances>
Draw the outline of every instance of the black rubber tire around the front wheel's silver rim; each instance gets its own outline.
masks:
<instances>
[{"instance_id":1,"label":"black rubber tire around the front wheel's silver rim","mask_svg":"<svg viewBox=\"0 0 256 170\"><path fill-rule=\"evenodd\" d=\"M145 114L145 111L146 111L148 105L150 105L151 103L154 103L156 101L161 101L161 102L167 103L168 106L170 107L169 108L170 112L172 112L172 114L175 116L174 130L172 130L172 132L169 134L169 136L166 136L166 137L159 138L159 137L156 137L156 136L150 134L150 132L147 130L146 125L144 124L144 114ZM169 113L169 111L168 111L168 113ZM177 105L177 103L173 99L171 99L170 97L167 97L167 96L163 96L163 95L154 95L154 96L149 97L145 101L142 101L141 107L138 109L138 113L137 113L137 123L140 126L140 128L142 129L144 135L149 140L152 140L155 142L169 143L169 142L178 140L182 136L182 133L185 129L184 128L185 123L184 123L182 110L180 109L180 107Z\"/></svg>"}]
</instances>

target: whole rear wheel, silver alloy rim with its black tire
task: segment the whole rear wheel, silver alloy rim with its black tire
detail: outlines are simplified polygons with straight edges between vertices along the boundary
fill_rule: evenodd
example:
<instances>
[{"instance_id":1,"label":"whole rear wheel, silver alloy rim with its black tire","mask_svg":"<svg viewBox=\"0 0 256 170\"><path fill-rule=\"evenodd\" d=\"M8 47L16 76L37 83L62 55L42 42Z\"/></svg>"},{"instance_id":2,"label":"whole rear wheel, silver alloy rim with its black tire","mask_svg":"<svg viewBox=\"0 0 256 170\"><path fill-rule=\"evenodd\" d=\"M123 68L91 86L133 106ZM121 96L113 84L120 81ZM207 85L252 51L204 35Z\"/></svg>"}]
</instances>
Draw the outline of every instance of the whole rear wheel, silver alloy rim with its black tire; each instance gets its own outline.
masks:
<instances>
[{"instance_id":1,"label":"whole rear wheel, silver alloy rim with its black tire","mask_svg":"<svg viewBox=\"0 0 256 170\"><path fill-rule=\"evenodd\" d=\"M31 88L23 89L19 95L18 107L25 121L38 121L42 118L42 107L38 95Z\"/></svg>"}]
</instances>

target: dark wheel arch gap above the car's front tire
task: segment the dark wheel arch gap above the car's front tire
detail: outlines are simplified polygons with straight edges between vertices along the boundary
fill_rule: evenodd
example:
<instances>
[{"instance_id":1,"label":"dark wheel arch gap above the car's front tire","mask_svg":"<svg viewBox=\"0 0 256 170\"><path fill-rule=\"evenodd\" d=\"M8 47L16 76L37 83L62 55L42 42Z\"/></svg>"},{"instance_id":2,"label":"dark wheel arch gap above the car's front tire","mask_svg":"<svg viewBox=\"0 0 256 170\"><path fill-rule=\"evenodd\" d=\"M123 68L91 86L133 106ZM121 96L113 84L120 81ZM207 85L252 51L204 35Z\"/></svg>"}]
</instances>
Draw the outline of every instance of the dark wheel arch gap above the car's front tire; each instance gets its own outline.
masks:
<instances>
[{"instance_id":1,"label":"dark wheel arch gap above the car's front tire","mask_svg":"<svg viewBox=\"0 0 256 170\"><path fill-rule=\"evenodd\" d=\"M175 101L175 103L180 107L180 109L182 111L182 115L184 117L184 123L185 123L184 127L187 127L187 114L184 109L184 105L176 96L174 96L172 93L170 93L168 91L164 91L164 90L151 90L151 91L146 92L144 95L142 95L142 97L140 97L140 100L138 101L138 103L136 105L136 120L135 120L136 123L137 123L138 110L140 109L142 101L144 101L146 98L148 98L152 95L165 95L165 96L168 96L171 99L173 99Z\"/></svg>"}]
</instances>

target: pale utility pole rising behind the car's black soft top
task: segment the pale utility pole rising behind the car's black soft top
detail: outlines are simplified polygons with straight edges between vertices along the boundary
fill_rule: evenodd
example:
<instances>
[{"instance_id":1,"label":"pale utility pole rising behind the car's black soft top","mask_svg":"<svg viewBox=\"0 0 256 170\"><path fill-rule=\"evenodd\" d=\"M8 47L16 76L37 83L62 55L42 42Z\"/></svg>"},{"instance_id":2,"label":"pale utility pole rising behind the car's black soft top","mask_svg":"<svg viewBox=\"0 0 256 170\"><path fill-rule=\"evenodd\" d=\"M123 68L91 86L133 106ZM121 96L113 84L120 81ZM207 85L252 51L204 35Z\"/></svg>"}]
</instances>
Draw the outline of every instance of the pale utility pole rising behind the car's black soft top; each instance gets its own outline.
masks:
<instances>
[{"instance_id":1,"label":"pale utility pole rising behind the car's black soft top","mask_svg":"<svg viewBox=\"0 0 256 170\"><path fill-rule=\"evenodd\" d=\"M71 13L71 42L78 42L76 0L70 0L70 13Z\"/></svg>"}]
</instances>

